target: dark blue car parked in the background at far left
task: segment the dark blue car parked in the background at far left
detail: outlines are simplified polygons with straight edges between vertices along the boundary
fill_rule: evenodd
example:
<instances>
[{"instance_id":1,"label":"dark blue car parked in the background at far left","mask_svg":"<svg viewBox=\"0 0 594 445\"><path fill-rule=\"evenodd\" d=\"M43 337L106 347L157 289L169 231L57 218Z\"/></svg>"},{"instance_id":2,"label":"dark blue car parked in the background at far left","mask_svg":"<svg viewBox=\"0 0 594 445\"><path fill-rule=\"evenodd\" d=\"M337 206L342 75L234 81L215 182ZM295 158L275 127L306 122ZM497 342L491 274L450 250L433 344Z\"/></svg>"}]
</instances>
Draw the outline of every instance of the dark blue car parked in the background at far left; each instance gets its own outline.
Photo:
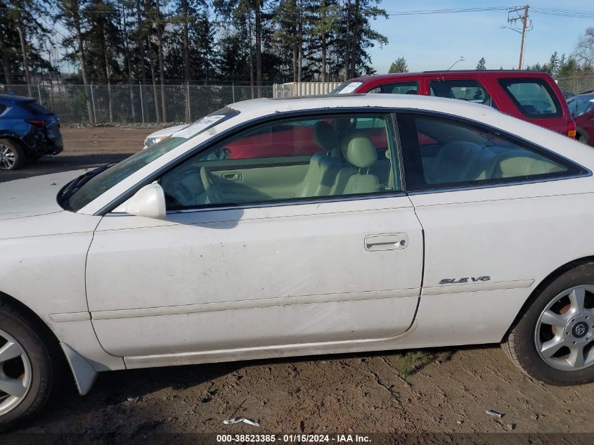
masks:
<instances>
[{"instance_id":1,"label":"dark blue car parked in the background at far left","mask_svg":"<svg viewBox=\"0 0 594 445\"><path fill-rule=\"evenodd\" d=\"M63 149L60 120L51 110L29 97L0 94L0 170Z\"/></svg>"}]
</instances>

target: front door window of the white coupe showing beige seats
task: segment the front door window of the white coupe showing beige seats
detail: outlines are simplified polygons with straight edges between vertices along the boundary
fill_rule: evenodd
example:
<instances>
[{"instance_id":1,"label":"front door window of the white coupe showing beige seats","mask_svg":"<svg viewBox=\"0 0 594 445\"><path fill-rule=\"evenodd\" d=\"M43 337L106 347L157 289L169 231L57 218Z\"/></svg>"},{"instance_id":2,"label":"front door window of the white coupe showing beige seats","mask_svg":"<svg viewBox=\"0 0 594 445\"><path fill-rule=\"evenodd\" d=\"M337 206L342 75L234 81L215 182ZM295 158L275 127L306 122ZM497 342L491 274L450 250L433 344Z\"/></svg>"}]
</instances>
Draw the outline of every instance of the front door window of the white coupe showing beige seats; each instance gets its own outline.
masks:
<instances>
[{"instance_id":1,"label":"front door window of the white coupe showing beige seats","mask_svg":"<svg viewBox=\"0 0 594 445\"><path fill-rule=\"evenodd\" d=\"M168 210L399 190L389 115L318 115L240 131L160 179Z\"/></svg>"}]
</instances>

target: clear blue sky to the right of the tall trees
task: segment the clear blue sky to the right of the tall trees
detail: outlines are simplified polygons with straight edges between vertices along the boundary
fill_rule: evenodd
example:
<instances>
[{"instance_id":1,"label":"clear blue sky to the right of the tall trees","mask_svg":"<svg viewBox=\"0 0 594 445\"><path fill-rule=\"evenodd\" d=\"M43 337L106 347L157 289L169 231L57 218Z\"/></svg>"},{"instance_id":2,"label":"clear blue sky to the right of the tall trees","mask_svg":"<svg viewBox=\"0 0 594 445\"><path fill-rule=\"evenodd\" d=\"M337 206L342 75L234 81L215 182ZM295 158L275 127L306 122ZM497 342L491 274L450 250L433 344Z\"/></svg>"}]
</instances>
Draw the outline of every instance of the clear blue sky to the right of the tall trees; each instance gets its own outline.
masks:
<instances>
[{"instance_id":1,"label":"clear blue sky to the right of the tall trees","mask_svg":"<svg viewBox=\"0 0 594 445\"><path fill-rule=\"evenodd\" d=\"M569 9L594 13L593 0L524 0L531 8ZM387 0L381 2L386 11L418 11L445 8L477 8L490 6L524 6L499 0ZM531 13L533 29L527 33L524 66L548 62L557 51L570 53L594 19L558 17ZM406 58L410 72L446 70L457 63L456 70L471 70L484 57L486 67L498 70L517 68L522 35L508 29L506 11L482 11L435 15L396 15L371 22L373 29L384 34L389 43L370 49L372 65L377 73L388 72L396 58Z\"/></svg>"}]
</instances>

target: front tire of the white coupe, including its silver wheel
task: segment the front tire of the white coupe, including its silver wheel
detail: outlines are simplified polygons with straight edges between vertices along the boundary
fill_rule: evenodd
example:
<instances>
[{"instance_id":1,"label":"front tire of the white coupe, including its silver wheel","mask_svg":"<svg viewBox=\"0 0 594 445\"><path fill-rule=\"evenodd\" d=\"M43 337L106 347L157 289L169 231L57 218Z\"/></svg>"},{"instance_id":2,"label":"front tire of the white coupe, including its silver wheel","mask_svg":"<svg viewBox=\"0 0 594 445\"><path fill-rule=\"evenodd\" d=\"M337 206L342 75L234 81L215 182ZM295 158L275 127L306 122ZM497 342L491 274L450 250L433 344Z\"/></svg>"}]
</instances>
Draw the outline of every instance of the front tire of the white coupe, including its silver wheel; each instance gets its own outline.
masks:
<instances>
[{"instance_id":1,"label":"front tire of the white coupe, including its silver wheel","mask_svg":"<svg viewBox=\"0 0 594 445\"><path fill-rule=\"evenodd\" d=\"M36 325L27 314L0 299L0 432L12 430L31 418L51 394L53 363L49 348L38 335L42 330L36 329ZM2 352L4 359L20 355L3 360ZM15 390L17 380L22 389ZM13 394L4 391L7 388Z\"/></svg>"}]
</instances>

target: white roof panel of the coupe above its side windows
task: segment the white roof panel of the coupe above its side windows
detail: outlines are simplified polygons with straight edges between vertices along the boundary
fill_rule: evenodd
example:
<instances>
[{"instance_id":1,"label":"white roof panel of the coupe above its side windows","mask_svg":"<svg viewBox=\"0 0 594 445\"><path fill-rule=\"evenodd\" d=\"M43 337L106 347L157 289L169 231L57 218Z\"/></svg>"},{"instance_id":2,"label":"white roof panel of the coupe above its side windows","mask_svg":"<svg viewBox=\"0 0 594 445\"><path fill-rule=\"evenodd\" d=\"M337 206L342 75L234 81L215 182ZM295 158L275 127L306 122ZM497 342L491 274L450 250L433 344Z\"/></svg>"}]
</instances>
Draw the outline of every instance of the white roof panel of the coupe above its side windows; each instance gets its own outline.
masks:
<instances>
[{"instance_id":1,"label":"white roof panel of the coupe above its side windows","mask_svg":"<svg viewBox=\"0 0 594 445\"><path fill-rule=\"evenodd\" d=\"M323 110L324 108L387 108L418 109L460 115L476 119L477 116L501 116L487 105L460 101L459 99L413 94L333 94L328 96L301 96L291 98L259 98L228 105L238 110L242 120L285 112Z\"/></svg>"}]
</instances>

